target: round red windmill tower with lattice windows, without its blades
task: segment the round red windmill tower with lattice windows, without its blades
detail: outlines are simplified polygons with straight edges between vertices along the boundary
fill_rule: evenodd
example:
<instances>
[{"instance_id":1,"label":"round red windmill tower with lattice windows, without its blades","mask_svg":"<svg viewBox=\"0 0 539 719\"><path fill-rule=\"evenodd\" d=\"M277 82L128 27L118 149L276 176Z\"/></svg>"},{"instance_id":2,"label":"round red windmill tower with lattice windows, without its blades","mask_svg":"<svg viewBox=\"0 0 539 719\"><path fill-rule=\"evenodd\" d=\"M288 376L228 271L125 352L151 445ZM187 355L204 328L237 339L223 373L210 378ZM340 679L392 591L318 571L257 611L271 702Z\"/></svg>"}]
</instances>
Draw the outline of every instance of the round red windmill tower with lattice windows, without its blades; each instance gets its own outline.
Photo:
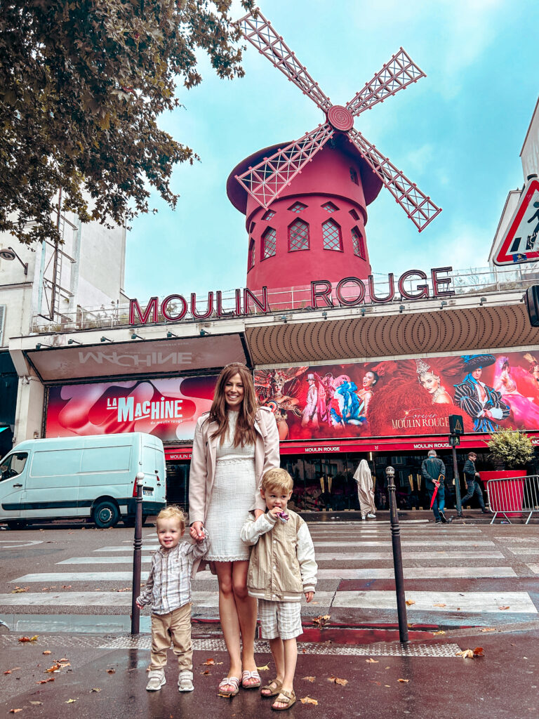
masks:
<instances>
[{"instance_id":1,"label":"round red windmill tower with lattice windows, without its blades","mask_svg":"<svg viewBox=\"0 0 539 719\"><path fill-rule=\"evenodd\" d=\"M367 205L382 188L354 145L336 135L265 208L236 176L281 146L267 147L232 170L231 203L245 214L249 235L247 288L259 296L267 287L272 306L301 306L311 280L337 283L371 274L365 224ZM289 290L295 288L295 296Z\"/></svg>"}]
</instances>

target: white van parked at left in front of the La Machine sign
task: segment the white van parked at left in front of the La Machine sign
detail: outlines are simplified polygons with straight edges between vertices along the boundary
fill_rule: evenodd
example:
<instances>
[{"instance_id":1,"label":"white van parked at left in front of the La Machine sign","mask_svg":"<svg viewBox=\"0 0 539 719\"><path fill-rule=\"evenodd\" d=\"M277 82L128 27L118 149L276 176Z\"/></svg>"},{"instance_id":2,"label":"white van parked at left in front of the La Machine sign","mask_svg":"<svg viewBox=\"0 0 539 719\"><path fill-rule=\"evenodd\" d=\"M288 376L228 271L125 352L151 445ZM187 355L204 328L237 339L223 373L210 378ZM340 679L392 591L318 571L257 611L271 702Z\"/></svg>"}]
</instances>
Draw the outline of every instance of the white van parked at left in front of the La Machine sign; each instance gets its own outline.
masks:
<instances>
[{"instance_id":1,"label":"white van parked at left in front of the La Machine sign","mask_svg":"<svg viewBox=\"0 0 539 719\"><path fill-rule=\"evenodd\" d=\"M0 522L86 518L132 526L137 473L144 473L142 515L165 506L165 450L152 434L98 434L23 441L0 462Z\"/></svg>"}]
</instances>

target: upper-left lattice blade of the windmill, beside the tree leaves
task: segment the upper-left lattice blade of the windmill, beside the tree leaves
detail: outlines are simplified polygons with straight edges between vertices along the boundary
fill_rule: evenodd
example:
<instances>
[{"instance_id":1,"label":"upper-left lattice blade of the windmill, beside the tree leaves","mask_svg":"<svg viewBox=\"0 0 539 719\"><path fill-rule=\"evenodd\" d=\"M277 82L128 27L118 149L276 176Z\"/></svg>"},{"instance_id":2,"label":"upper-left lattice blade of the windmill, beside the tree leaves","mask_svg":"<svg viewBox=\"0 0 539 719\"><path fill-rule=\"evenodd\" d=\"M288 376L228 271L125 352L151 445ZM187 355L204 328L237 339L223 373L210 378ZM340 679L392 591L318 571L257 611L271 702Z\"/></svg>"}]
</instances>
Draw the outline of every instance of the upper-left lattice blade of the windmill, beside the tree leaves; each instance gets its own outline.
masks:
<instances>
[{"instance_id":1,"label":"upper-left lattice blade of the windmill, beside the tree leaves","mask_svg":"<svg viewBox=\"0 0 539 719\"><path fill-rule=\"evenodd\" d=\"M328 96L321 91L318 83L311 78L307 69L299 63L290 47L286 45L280 35L277 35L270 21L260 11L257 12L257 17L254 17L253 13L249 13L238 20L237 24L245 39L270 60L277 70L280 70L292 83L297 85L304 95L308 95L323 111L327 112L330 109L331 101Z\"/></svg>"}]
</instances>

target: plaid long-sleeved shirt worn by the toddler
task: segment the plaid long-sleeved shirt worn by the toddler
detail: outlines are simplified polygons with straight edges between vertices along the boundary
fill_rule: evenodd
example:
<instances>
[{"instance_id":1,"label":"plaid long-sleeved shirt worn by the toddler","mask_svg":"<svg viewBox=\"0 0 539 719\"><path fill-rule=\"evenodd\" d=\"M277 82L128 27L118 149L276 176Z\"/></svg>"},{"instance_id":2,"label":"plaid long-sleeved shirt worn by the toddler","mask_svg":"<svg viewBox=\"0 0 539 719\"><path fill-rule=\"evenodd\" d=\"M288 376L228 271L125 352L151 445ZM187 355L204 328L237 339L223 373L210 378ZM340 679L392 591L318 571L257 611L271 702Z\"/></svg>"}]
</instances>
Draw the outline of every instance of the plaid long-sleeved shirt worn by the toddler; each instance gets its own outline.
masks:
<instances>
[{"instance_id":1,"label":"plaid long-sleeved shirt worn by the toddler","mask_svg":"<svg viewBox=\"0 0 539 719\"><path fill-rule=\"evenodd\" d=\"M146 588L139 596L140 605L152 603L153 614L169 614L191 600L193 562L209 547L208 533L198 542L180 541L173 549L160 546L152 557Z\"/></svg>"}]
</instances>

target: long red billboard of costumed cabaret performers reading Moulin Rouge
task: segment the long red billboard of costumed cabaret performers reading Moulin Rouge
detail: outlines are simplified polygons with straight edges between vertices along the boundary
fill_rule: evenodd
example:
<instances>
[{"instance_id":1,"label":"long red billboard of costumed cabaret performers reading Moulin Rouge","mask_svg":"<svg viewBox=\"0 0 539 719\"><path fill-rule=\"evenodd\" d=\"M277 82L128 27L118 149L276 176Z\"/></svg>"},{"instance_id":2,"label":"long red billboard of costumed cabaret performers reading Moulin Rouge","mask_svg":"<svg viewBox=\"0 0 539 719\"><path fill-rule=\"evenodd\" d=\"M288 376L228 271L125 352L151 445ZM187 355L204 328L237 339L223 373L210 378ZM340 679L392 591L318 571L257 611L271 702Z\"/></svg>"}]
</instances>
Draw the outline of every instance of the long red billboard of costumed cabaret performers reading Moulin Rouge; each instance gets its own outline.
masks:
<instances>
[{"instance_id":1,"label":"long red billboard of costumed cabaret performers reading Moulin Rouge","mask_svg":"<svg viewBox=\"0 0 539 719\"><path fill-rule=\"evenodd\" d=\"M539 429L539 351L255 370L282 441Z\"/></svg>"}]
</instances>

